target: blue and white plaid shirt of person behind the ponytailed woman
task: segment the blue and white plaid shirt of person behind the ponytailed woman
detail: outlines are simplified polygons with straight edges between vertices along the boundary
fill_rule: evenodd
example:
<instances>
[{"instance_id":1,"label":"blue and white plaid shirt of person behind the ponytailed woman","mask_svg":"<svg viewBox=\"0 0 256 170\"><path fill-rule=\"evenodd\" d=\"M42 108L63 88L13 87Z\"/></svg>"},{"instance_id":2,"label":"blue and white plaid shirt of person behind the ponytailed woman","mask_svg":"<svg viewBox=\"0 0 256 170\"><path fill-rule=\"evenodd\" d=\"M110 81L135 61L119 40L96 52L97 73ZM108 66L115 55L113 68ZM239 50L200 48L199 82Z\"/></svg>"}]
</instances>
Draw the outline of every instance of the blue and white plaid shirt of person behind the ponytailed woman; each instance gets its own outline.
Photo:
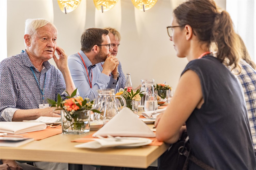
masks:
<instances>
[{"instance_id":1,"label":"blue and white plaid shirt of person behind the ponytailed woman","mask_svg":"<svg viewBox=\"0 0 256 170\"><path fill-rule=\"evenodd\" d=\"M242 71L237 75L237 77L244 90L244 98L250 122L253 147L256 149L256 71L242 59L239 64ZM238 73L238 70L234 70L234 72Z\"/></svg>"}]
</instances>

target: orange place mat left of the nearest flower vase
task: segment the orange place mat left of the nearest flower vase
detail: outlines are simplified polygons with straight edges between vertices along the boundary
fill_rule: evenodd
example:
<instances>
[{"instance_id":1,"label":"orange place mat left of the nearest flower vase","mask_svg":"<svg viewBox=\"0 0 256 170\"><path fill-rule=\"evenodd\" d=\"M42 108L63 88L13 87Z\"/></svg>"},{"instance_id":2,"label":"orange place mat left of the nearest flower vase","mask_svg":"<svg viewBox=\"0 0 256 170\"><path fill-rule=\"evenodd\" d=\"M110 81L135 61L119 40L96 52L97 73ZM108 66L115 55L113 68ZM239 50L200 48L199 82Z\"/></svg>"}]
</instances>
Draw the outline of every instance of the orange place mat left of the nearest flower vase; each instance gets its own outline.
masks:
<instances>
[{"instance_id":1,"label":"orange place mat left of the nearest flower vase","mask_svg":"<svg viewBox=\"0 0 256 170\"><path fill-rule=\"evenodd\" d=\"M61 126L58 126L56 128L51 128L48 126L44 130L35 131L35 132L28 132L27 134L21 134L24 138L34 138L34 140L41 140L45 139L54 135L58 135L62 133Z\"/></svg>"}]
</instances>

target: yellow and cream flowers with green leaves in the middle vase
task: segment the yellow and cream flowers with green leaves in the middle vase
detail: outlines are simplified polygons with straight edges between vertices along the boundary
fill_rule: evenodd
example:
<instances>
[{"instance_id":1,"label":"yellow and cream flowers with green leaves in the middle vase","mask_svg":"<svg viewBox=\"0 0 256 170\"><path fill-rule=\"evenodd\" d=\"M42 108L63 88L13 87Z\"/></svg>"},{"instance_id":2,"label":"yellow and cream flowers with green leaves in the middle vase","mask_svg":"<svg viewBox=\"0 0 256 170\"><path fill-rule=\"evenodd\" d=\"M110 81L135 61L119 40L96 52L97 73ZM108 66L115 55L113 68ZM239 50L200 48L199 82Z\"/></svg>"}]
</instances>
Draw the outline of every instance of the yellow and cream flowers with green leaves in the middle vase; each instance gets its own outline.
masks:
<instances>
[{"instance_id":1,"label":"yellow and cream flowers with green leaves in the middle vase","mask_svg":"<svg viewBox=\"0 0 256 170\"><path fill-rule=\"evenodd\" d=\"M144 92L144 91L143 91ZM132 100L135 101L140 101L141 97L144 96L144 94L142 94L142 92L140 92L140 89L138 89L136 92L131 90L131 92L127 91L127 88L125 88L124 90L121 88L119 90L118 93L116 93L116 95L121 95L124 97L124 99L126 100L126 107L128 107L129 109L132 110ZM120 100L122 101L122 100ZM121 104L123 105L123 103L121 102Z\"/></svg>"}]
</instances>

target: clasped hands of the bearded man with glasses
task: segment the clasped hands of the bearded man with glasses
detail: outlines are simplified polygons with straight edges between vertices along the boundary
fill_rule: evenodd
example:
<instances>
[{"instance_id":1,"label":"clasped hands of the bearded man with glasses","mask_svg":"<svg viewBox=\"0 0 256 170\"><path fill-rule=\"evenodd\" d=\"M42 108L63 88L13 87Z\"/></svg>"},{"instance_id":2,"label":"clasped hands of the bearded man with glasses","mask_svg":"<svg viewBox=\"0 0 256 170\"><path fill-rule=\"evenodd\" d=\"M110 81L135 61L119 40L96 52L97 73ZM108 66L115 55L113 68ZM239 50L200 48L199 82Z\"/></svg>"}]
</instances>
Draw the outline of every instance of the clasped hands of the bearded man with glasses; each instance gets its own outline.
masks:
<instances>
[{"instance_id":1,"label":"clasped hands of the bearded man with glasses","mask_svg":"<svg viewBox=\"0 0 256 170\"><path fill-rule=\"evenodd\" d=\"M119 61L115 56L111 56L108 54L107 59L105 60L104 64L102 65L102 73L109 75L111 72L113 75L117 75L117 67Z\"/></svg>"}]
</instances>

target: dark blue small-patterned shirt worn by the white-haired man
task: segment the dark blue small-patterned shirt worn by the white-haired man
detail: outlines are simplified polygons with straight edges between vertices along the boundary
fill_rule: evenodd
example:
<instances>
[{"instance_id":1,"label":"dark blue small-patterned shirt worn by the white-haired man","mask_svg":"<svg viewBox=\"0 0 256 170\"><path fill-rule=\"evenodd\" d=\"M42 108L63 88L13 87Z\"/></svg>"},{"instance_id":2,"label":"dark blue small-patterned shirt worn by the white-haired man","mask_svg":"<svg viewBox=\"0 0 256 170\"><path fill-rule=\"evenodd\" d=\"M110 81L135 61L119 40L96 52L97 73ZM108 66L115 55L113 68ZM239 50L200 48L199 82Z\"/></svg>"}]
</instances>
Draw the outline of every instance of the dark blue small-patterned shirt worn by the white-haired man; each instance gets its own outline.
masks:
<instances>
[{"instance_id":1,"label":"dark blue small-patterned shirt worn by the white-haired man","mask_svg":"<svg viewBox=\"0 0 256 170\"><path fill-rule=\"evenodd\" d=\"M46 78L45 103L47 98L56 101L58 94L61 94L62 99L68 96L65 82L53 65L45 61L39 72L27 52L21 52L0 63L0 121L12 121L18 109L39 109L39 104L43 104L42 94L30 67L33 67L40 88L44 87Z\"/></svg>"}]
</instances>

